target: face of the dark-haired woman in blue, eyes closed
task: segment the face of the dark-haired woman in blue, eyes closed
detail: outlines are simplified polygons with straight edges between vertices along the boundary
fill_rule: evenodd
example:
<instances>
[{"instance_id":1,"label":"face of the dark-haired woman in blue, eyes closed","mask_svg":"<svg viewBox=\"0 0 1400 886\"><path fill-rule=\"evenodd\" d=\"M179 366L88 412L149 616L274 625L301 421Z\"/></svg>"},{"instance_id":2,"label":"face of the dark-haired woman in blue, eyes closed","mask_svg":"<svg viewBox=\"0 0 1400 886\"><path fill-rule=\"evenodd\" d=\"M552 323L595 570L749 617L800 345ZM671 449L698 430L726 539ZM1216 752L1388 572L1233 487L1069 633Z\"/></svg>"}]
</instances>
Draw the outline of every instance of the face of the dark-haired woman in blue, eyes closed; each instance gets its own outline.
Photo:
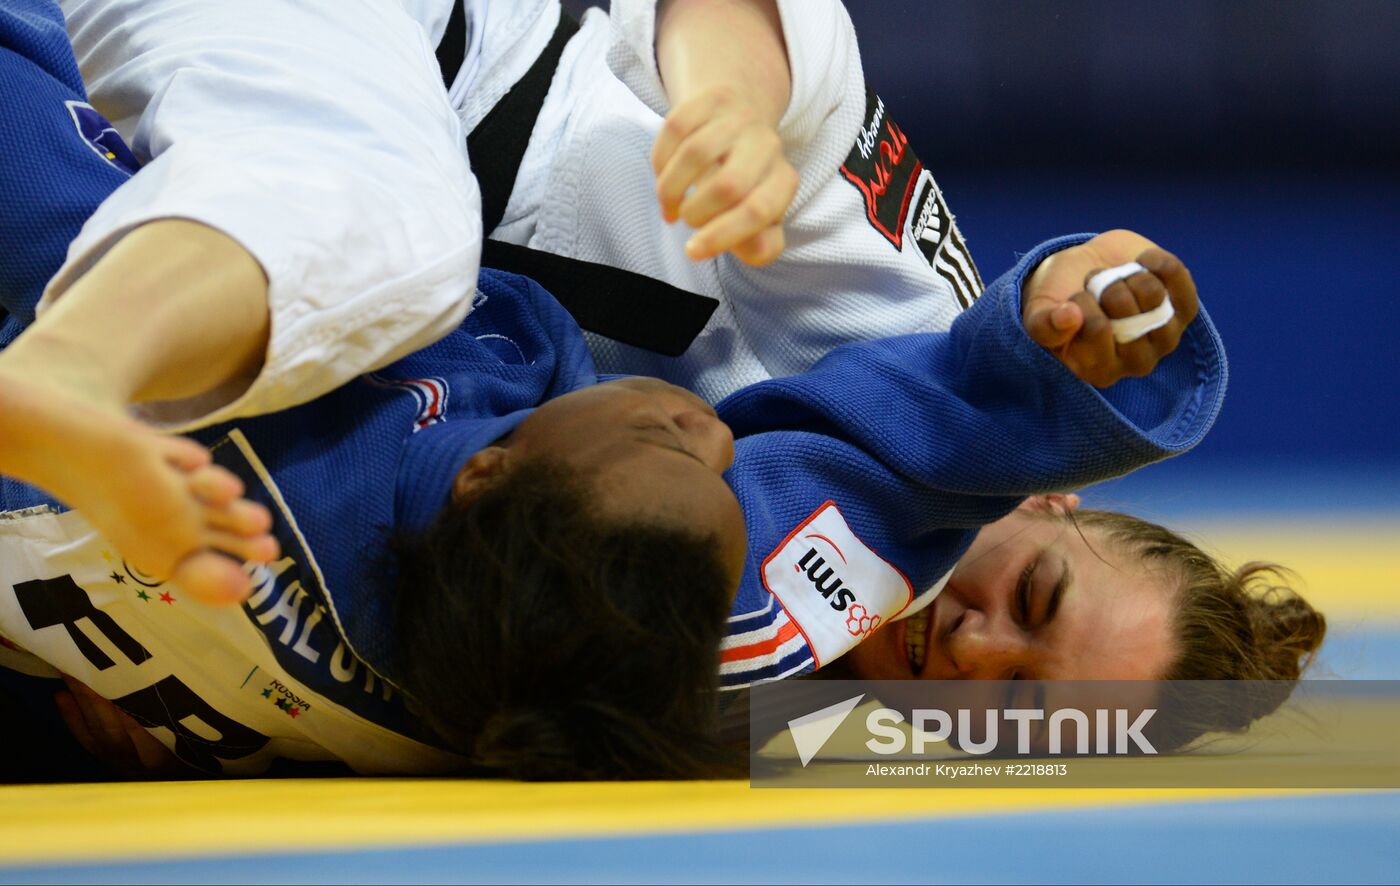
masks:
<instances>
[{"instance_id":1,"label":"face of the dark-haired woman in blue, eyes closed","mask_svg":"<svg viewBox=\"0 0 1400 886\"><path fill-rule=\"evenodd\" d=\"M603 515L717 537L738 588L748 533L722 476L734 434L696 395L655 378L592 385L542 405L503 445L591 477Z\"/></svg>"}]
</instances>

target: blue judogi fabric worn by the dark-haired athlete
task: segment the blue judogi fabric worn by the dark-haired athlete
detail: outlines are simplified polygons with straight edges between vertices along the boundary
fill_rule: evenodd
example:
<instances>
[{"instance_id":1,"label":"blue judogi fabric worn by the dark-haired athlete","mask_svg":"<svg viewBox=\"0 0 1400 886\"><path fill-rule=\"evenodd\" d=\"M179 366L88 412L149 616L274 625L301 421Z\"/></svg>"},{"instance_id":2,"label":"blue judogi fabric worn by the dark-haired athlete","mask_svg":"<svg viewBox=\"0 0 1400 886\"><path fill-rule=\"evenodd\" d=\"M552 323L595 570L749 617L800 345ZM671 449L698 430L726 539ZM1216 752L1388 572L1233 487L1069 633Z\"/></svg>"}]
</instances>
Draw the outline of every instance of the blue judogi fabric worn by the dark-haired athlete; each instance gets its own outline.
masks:
<instances>
[{"instance_id":1,"label":"blue judogi fabric worn by the dark-haired athlete","mask_svg":"<svg viewBox=\"0 0 1400 886\"><path fill-rule=\"evenodd\" d=\"M0 13L6 342L32 319L87 214L134 171L84 104L56 8L11 6ZM1028 252L948 333L847 344L717 405L736 438L727 479L749 537L722 649L727 686L812 670L925 605L977 529L1026 495L1119 476L1204 437L1226 379L1204 311L1151 377L1107 391L1026 336L1022 281L1086 238ZM578 326L545 290L483 270L472 314L431 347L304 406L195 435L276 515L295 563L277 581L307 591L304 624L325 614L304 641L322 661L344 642L392 683L388 539L423 528L461 466L535 406L596 381ZM59 507L0 480L0 509L35 504ZM256 623L259 606L246 610ZM274 648L276 627L265 626ZM339 691L305 656L288 652L286 666L377 722L414 729L379 696Z\"/></svg>"}]
</instances>

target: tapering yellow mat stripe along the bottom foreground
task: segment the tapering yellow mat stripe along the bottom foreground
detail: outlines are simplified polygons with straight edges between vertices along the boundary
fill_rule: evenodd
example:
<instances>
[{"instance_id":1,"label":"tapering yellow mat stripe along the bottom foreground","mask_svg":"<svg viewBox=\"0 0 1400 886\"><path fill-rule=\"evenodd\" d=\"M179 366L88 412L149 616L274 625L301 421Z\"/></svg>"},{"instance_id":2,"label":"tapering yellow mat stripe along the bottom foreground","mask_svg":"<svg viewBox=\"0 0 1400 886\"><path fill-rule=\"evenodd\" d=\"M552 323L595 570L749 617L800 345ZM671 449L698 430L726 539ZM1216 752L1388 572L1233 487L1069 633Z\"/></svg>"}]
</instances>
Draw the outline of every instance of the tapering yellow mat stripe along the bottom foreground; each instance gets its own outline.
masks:
<instances>
[{"instance_id":1,"label":"tapering yellow mat stripe along the bottom foreground","mask_svg":"<svg viewBox=\"0 0 1400 886\"><path fill-rule=\"evenodd\" d=\"M748 782L281 780L0 788L0 864L673 834L1306 791L752 789Z\"/></svg>"}]
</instances>

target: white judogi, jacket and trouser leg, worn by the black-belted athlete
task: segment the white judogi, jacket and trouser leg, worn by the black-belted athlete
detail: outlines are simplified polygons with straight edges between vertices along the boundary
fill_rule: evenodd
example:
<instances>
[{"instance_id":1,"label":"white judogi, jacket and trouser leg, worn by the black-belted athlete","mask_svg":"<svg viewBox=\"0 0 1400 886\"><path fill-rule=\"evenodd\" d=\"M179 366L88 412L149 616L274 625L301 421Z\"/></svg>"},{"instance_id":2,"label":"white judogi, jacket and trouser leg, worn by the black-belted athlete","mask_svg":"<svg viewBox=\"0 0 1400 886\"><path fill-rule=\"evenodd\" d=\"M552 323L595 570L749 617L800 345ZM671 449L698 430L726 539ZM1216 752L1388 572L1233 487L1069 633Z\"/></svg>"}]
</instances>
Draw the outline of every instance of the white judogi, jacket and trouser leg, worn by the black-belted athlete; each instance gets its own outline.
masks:
<instances>
[{"instance_id":1,"label":"white judogi, jacket and trouser leg, worn by the black-belted athlete","mask_svg":"<svg viewBox=\"0 0 1400 886\"><path fill-rule=\"evenodd\" d=\"M449 0L66 0L92 104L147 162L73 244L45 305L125 231L193 218L269 279L272 339L246 391L150 407L193 427L312 399L441 337L469 309L480 199L465 137L531 66L556 0L468 0L444 98ZM843 342L945 329L980 281L932 176L867 97L836 0L783 0L802 185L764 269L685 258L650 151L669 109L654 3L589 11L566 48L496 237L645 273L721 301L679 360L594 336L599 368L715 400ZM43 305L41 305L41 309Z\"/></svg>"}]
</instances>

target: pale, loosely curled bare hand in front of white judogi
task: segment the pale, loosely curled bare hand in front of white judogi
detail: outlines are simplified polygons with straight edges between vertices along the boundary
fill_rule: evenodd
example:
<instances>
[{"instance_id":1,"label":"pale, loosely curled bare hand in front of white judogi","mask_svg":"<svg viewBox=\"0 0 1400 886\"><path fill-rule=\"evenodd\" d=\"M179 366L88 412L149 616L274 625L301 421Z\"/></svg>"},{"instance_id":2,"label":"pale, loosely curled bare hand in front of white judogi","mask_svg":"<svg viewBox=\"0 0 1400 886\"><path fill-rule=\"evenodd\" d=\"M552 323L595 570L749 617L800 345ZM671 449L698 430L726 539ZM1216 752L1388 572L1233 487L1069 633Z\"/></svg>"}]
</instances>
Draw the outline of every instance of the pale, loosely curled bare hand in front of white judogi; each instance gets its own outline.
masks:
<instances>
[{"instance_id":1,"label":"pale, loosely curled bare hand in front of white judogi","mask_svg":"<svg viewBox=\"0 0 1400 886\"><path fill-rule=\"evenodd\" d=\"M651 168L662 217L696 230L686 242L690 259L732 252L767 265L783 252L797 169L777 130L735 90L707 90L676 105L651 150Z\"/></svg>"}]
</instances>

